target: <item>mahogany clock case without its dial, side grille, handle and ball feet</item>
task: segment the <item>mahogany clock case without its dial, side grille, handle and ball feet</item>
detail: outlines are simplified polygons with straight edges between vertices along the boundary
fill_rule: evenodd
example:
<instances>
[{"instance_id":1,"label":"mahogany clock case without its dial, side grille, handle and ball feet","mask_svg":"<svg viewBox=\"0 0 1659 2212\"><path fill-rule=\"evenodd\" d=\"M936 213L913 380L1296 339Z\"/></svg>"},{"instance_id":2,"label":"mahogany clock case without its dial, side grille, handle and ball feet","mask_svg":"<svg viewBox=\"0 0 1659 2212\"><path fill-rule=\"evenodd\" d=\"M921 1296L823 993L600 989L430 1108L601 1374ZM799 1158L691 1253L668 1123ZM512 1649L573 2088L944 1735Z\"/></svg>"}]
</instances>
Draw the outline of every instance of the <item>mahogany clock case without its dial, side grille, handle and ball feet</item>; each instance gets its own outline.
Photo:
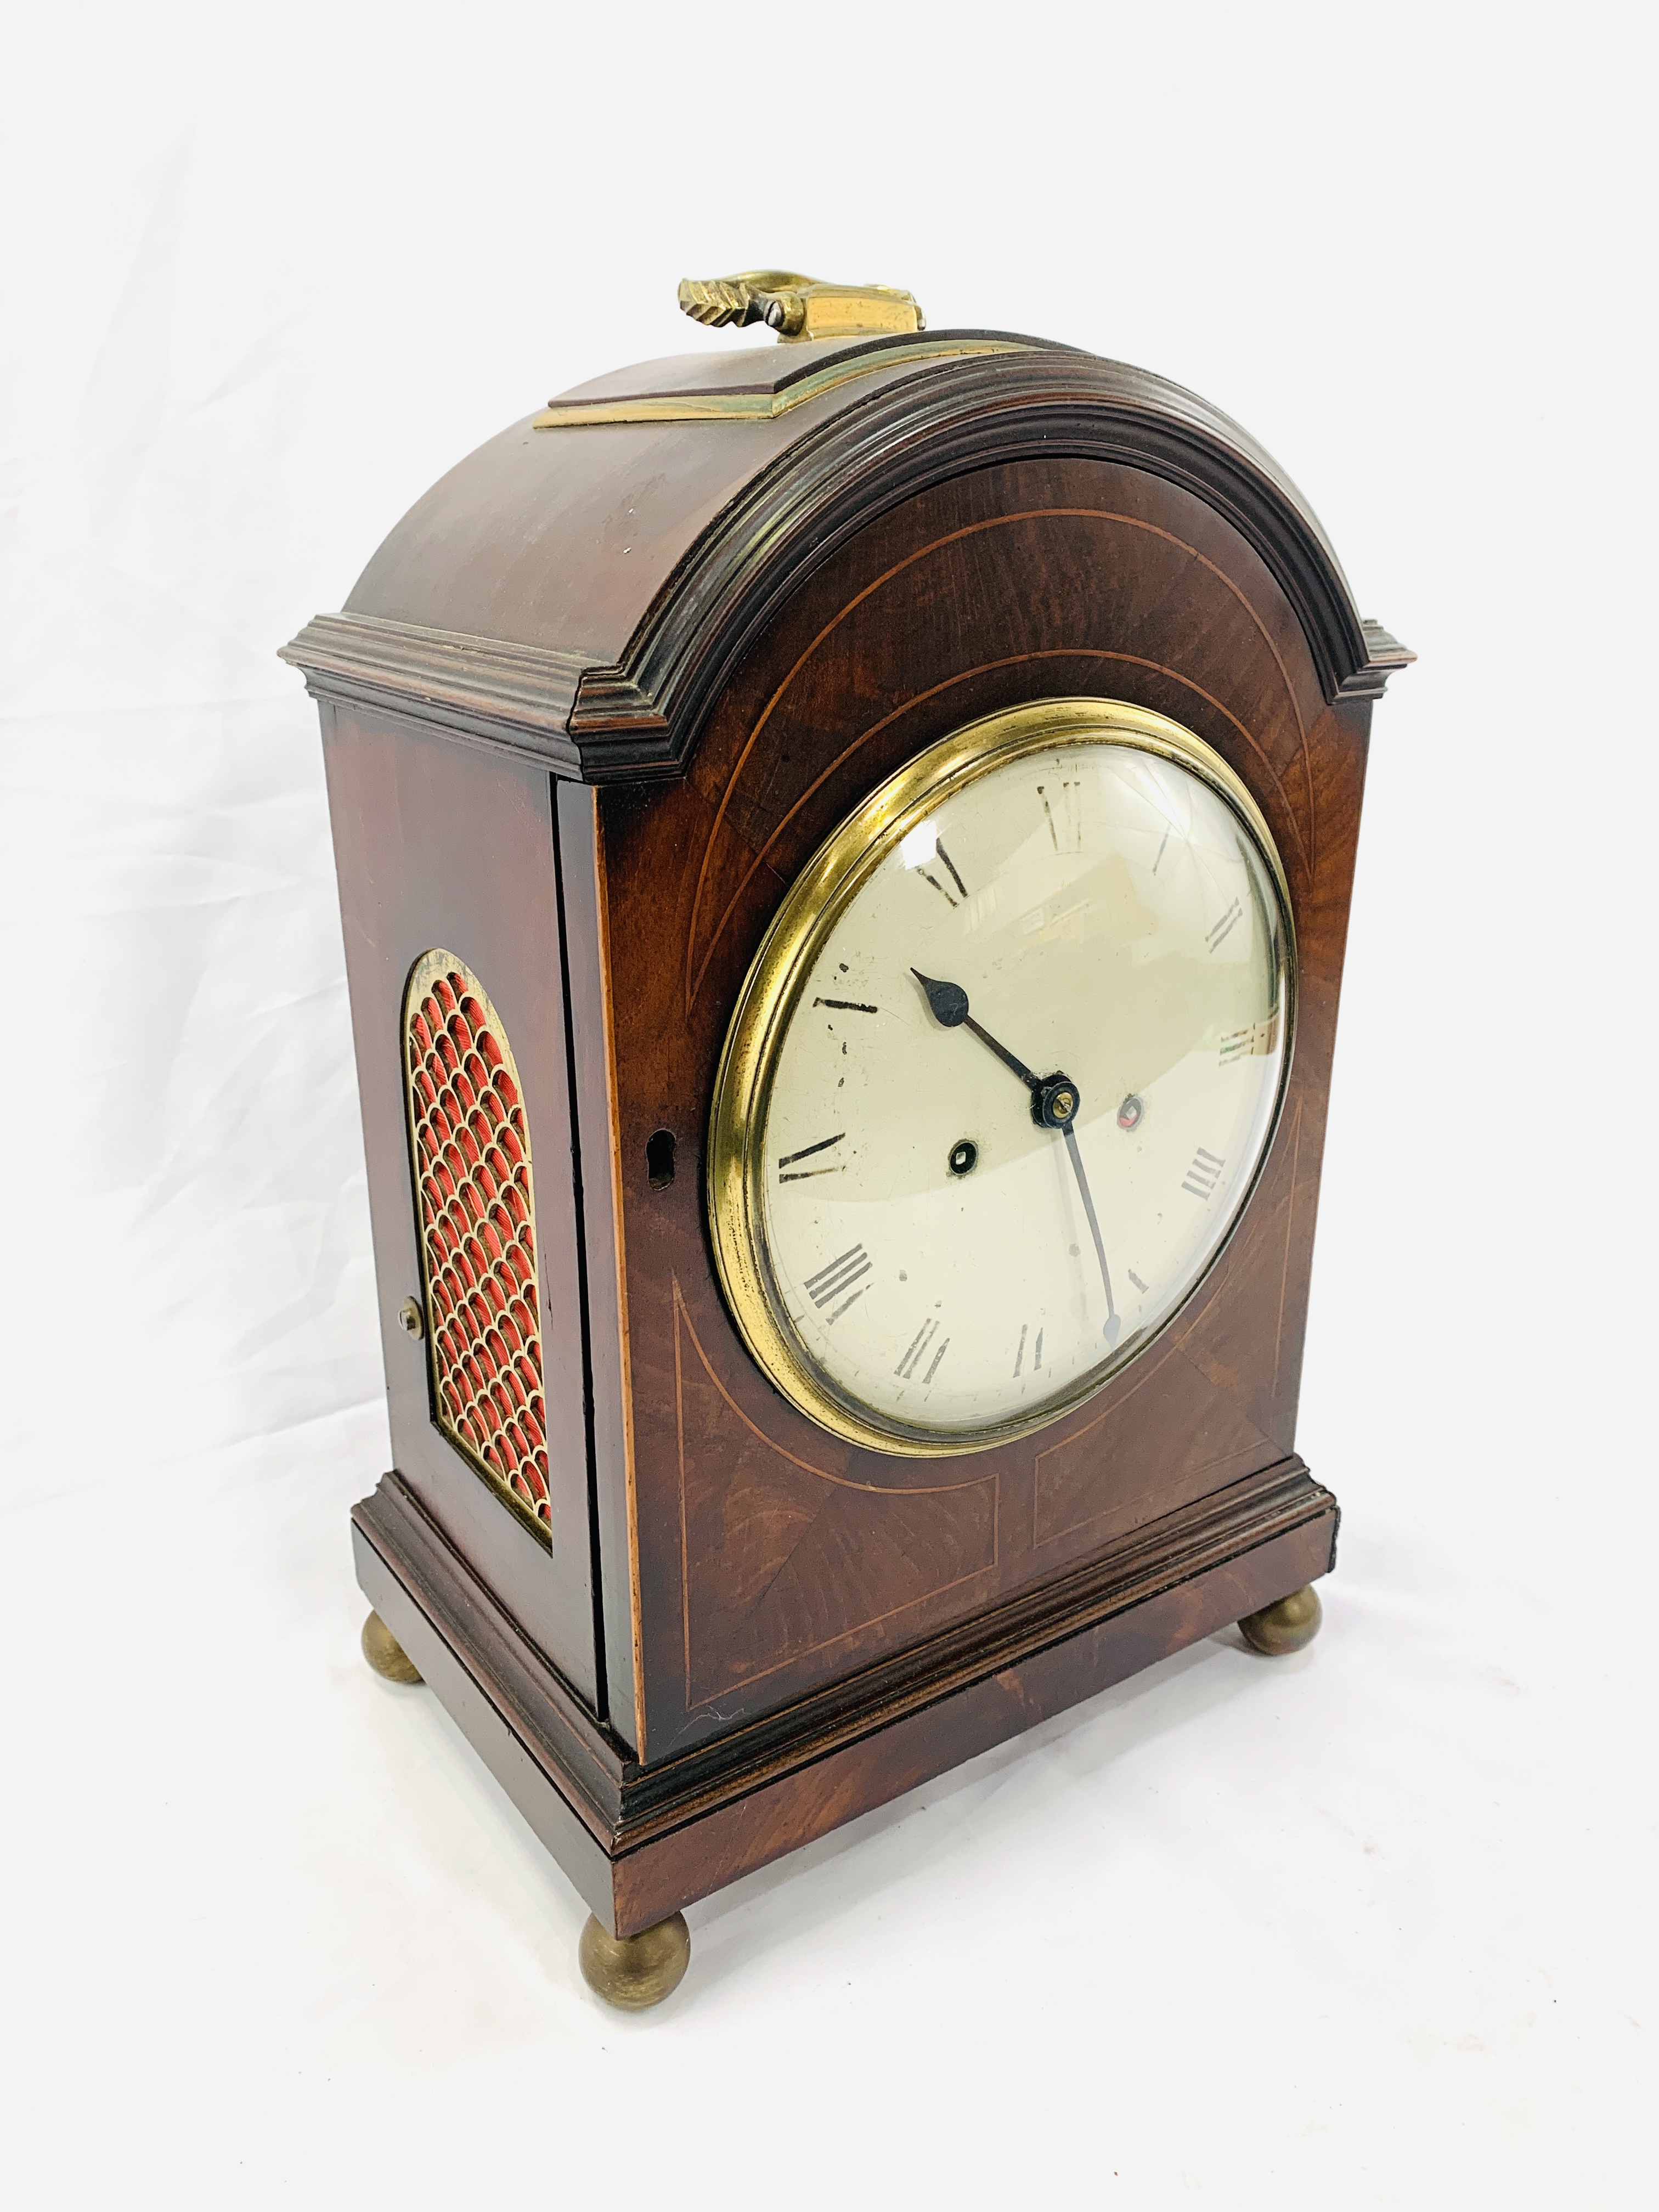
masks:
<instances>
[{"instance_id":1,"label":"mahogany clock case without its dial, side grille, handle and ball feet","mask_svg":"<svg viewBox=\"0 0 1659 2212\"><path fill-rule=\"evenodd\" d=\"M619 1936L1334 1557L1296 1394L1371 701L1409 655L1201 400L951 336L602 380L776 400L858 372L765 416L518 425L288 648L323 710L396 1458L358 1579ZM1294 1064L1150 1349L1035 1438L907 1460L752 1365L710 1259L710 1093L814 849L922 748L1055 697L1166 714L1245 781L1290 885ZM407 1334L405 993L434 949L511 1040L535 1168L533 1513L438 1427Z\"/></svg>"}]
</instances>

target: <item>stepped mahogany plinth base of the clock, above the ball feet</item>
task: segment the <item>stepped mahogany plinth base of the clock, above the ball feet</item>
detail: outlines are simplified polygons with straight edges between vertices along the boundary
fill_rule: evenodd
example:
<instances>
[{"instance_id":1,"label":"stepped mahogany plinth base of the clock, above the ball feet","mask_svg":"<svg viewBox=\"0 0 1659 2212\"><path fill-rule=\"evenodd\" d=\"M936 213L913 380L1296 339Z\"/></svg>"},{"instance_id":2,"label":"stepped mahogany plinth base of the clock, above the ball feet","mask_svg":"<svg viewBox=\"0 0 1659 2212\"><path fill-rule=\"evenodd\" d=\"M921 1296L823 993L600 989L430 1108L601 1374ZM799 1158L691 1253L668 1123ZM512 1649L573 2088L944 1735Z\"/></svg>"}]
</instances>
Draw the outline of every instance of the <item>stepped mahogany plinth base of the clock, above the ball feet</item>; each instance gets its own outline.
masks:
<instances>
[{"instance_id":1,"label":"stepped mahogany plinth base of the clock, above the ball feet","mask_svg":"<svg viewBox=\"0 0 1659 2212\"><path fill-rule=\"evenodd\" d=\"M356 1509L354 1537L358 1584L398 1657L411 1655L599 1933L626 1940L1232 1621L1259 1635L1279 1621L1263 1648L1294 1650L1287 1637L1307 1641L1318 1624L1305 1584L1332 1566L1336 1500L1283 1460L852 1681L646 1765L398 1475ZM1296 1608L1312 1626L1287 1617Z\"/></svg>"}]
</instances>

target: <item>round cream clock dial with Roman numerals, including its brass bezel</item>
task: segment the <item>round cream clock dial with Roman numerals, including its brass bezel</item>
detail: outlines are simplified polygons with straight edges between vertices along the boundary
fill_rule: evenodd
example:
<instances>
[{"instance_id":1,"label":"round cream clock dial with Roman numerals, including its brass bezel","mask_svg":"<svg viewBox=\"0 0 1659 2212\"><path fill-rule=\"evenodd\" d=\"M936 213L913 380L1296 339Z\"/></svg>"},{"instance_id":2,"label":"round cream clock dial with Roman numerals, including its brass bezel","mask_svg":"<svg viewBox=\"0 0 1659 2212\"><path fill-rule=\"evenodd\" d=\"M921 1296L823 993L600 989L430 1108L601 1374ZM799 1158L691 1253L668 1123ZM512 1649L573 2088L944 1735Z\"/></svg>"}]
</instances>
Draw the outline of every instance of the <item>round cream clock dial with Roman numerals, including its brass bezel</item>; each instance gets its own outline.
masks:
<instances>
[{"instance_id":1,"label":"round cream clock dial with Roman numerals, including its brass bezel","mask_svg":"<svg viewBox=\"0 0 1659 2212\"><path fill-rule=\"evenodd\" d=\"M1272 1137L1285 916L1237 776L1108 701L958 732L845 823L754 962L710 1144L721 1274L785 1396L964 1451L1144 1349Z\"/></svg>"}]
</instances>

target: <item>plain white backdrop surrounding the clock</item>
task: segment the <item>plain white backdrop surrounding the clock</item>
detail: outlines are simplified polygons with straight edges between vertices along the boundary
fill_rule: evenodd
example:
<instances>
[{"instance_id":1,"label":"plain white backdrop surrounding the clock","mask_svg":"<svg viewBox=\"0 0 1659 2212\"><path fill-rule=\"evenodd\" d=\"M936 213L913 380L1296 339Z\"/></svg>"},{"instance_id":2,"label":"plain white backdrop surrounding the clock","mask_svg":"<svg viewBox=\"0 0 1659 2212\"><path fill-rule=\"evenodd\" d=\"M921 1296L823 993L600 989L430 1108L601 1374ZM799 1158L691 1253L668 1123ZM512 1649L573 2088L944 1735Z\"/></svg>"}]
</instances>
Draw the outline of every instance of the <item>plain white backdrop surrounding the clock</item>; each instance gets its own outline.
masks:
<instances>
[{"instance_id":1,"label":"plain white backdrop surrounding the clock","mask_svg":"<svg viewBox=\"0 0 1659 2212\"><path fill-rule=\"evenodd\" d=\"M18 2203L1655 2201L1648 22L9 11ZM1197 387L1420 666L1318 1232L1325 1635L1206 1644L692 1909L626 2020L356 1655L387 1440L274 648L469 447L697 345L681 274L757 263Z\"/></svg>"}]
</instances>

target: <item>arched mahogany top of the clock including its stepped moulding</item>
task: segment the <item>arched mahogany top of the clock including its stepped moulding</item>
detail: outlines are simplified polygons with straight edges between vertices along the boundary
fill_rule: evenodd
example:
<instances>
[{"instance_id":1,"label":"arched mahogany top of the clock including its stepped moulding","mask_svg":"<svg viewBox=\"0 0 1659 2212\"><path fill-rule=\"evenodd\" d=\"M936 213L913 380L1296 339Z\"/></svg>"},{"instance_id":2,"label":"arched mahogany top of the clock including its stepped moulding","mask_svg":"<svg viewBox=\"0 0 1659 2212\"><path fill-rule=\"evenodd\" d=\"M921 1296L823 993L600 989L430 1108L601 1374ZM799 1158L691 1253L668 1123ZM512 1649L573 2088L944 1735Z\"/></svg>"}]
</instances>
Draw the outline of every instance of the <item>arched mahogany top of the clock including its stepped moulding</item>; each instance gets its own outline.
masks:
<instances>
[{"instance_id":1,"label":"arched mahogany top of the clock including its stepped moulding","mask_svg":"<svg viewBox=\"0 0 1659 2212\"><path fill-rule=\"evenodd\" d=\"M745 646L902 500L1020 460L1179 484L1254 549L1327 701L1411 653L1363 622L1296 484L1208 400L1009 332L796 338L599 376L451 469L341 615L283 648L314 692L586 783L677 779Z\"/></svg>"}]
</instances>

